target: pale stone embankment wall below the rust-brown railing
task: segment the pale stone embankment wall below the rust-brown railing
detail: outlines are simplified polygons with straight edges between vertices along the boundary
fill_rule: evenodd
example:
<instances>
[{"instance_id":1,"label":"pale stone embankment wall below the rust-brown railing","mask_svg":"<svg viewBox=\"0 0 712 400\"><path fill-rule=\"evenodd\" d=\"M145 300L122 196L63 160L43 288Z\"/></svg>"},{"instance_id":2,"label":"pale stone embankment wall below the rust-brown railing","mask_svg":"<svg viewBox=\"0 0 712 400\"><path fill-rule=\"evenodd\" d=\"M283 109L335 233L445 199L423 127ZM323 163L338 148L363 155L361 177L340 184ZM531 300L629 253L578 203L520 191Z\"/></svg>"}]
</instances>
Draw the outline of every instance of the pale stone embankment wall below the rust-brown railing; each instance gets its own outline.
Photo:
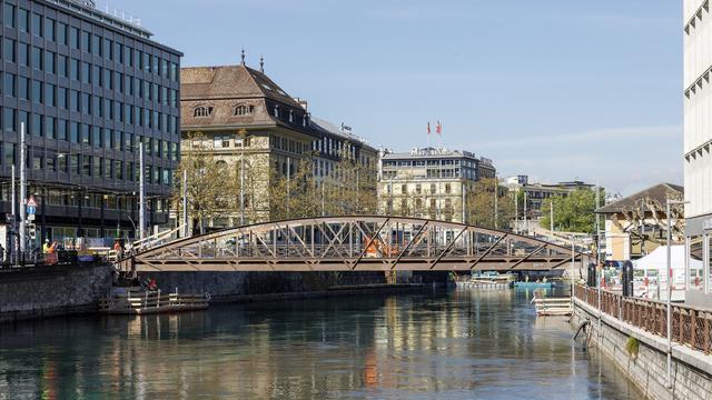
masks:
<instances>
[{"instance_id":1,"label":"pale stone embankment wall below the rust-brown railing","mask_svg":"<svg viewBox=\"0 0 712 400\"><path fill-rule=\"evenodd\" d=\"M616 318L602 314L575 300L572 323L591 321L590 340L645 393L649 399L712 399L712 356L673 342L672 388L668 388L668 339L651 334ZM629 338L639 342L636 356L629 354Z\"/></svg>"}]
</instances>

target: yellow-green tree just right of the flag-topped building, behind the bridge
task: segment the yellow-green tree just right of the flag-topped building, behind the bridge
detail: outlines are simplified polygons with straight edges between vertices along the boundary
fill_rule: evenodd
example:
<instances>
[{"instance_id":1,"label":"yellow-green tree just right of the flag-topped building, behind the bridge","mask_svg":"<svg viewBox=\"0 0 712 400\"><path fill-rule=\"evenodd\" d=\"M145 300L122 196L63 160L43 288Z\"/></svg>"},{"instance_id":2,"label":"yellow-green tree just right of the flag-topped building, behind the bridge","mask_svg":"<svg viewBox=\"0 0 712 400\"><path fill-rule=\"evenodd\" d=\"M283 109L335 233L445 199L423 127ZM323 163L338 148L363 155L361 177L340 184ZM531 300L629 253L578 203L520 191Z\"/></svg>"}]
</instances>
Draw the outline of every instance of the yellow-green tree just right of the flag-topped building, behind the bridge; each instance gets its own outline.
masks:
<instances>
[{"instance_id":1,"label":"yellow-green tree just right of the flag-topped building, behind the bridge","mask_svg":"<svg viewBox=\"0 0 712 400\"><path fill-rule=\"evenodd\" d=\"M506 188L500 187L496 178L483 178L475 182L465 200L468 223L502 230L508 228L508 221L514 214L514 199Z\"/></svg>"}]
</instances>

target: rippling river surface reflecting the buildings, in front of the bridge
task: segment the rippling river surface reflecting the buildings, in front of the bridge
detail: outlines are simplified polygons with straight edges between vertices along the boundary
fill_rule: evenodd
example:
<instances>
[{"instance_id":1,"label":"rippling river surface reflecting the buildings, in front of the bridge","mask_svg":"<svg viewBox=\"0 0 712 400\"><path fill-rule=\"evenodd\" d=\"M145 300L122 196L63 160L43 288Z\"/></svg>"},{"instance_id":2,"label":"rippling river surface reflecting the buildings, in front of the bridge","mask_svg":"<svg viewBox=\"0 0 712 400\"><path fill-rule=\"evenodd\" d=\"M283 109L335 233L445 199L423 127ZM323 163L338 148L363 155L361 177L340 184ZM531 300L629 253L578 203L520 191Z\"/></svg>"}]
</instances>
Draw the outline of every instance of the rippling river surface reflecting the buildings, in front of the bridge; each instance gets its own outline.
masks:
<instances>
[{"instance_id":1,"label":"rippling river surface reflecting the buildings, in front of the bridge","mask_svg":"<svg viewBox=\"0 0 712 400\"><path fill-rule=\"evenodd\" d=\"M640 398L565 320L508 290L0 329L0 399Z\"/></svg>"}]
</instances>

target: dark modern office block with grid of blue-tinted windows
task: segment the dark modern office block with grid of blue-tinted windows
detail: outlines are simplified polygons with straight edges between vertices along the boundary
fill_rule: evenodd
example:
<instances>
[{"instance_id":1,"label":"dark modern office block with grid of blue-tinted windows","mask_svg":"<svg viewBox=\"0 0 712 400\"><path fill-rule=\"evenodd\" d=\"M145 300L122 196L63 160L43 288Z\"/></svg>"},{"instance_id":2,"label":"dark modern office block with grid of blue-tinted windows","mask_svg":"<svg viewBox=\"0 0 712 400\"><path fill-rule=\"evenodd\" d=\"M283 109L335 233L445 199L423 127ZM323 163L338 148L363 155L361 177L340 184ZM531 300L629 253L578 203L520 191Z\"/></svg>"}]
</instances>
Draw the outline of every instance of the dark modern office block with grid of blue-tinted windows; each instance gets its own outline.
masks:
<instances>
[{"instance_id":1,"label":"dark modern office block with grid of blue-tinted windows","mask_svg":"<svg viewBox=\"0 0 712 400\"><path fill-rule=\"evenodd\" d=\"M38 239L134 237L141 144L147 222L166 223L182 54L88 1L3 0L0 12L3 212L23 124Z\"/></svg>"}]
</instances>

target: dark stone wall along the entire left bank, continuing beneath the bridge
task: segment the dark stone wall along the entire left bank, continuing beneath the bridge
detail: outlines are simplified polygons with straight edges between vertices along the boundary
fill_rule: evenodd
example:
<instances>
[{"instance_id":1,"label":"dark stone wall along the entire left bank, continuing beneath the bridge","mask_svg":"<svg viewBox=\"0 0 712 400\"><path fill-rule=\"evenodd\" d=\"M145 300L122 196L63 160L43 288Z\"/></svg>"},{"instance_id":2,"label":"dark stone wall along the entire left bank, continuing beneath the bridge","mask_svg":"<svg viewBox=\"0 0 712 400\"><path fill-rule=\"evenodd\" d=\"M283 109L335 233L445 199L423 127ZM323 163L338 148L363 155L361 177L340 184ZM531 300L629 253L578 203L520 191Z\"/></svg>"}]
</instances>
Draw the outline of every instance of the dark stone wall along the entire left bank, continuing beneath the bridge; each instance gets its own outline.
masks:
<instances>
[{"instance_id":1,"label":"dark stone wall along the entire left bank, continuing beneath the bridge","mask_svg":"<svg viewBox=\"0 0 712 400\"><path fill-rule=\"evenodd\" d=\"M111 271L111 266L0 270L0 323L96 312L98 300L110 292ZM146 276L156 278L161 291L174 292L177 288L181 293L207 292L210 293L211 302L266 301L413 289L383 286L383 272L159 272ZM422 281L446 279L446 274L433 273L423 277ZM338 287L350 288L334 290Z\"/></svg>"}]
</instances>

